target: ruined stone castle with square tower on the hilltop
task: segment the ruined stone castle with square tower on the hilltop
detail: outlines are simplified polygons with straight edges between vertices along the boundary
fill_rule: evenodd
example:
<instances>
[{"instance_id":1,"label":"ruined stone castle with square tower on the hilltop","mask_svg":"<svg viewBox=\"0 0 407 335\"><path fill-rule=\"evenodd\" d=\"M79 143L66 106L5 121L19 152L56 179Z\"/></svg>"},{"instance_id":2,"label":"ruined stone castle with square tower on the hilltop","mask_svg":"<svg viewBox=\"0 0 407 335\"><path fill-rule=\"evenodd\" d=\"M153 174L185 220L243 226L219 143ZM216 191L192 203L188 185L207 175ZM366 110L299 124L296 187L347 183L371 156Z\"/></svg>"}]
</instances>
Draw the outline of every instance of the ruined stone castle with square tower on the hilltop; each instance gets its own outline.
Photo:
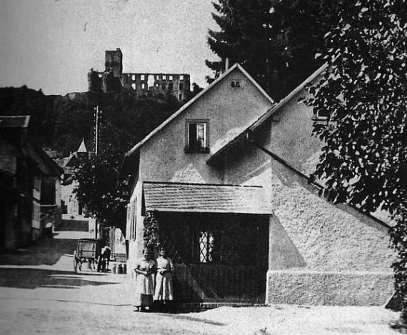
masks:
<instances>
[{"instance_id":1,"label":"ruined stone castle with square tower on the hilltop","mask_svg":"<svg viewBox=\"0 0 407 335\"><path fill-rule=\"evenodd\" d=\"M89 71L88 91L172 94L181 101L189 99L190 78L189 74L123 73L123 54L117 48L106 50L104 72Z\"/></svg>"}]
</instances>

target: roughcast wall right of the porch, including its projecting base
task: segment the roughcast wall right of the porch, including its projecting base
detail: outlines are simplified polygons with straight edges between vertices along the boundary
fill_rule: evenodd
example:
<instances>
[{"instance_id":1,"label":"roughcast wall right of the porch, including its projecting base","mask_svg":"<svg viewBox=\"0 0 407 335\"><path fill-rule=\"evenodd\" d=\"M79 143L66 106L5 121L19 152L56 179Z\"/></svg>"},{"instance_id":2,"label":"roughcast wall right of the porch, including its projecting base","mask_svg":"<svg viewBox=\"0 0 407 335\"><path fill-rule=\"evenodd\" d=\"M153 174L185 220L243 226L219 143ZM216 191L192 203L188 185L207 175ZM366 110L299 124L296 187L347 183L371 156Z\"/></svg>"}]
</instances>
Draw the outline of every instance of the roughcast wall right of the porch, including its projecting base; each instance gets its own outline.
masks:
<instances>
[{"instance_id":1,"label":"roughcast wall right of the porch, including its projecting base","mask_svg":"<svg viewBox=\"0 0 407 335\"><path fill-rule=\"evenodd\" d=\"M267 302L384 304L393 293L395 258L388 228L350 206L328 203L275 161L271 170Z\"/></svg>"}]
</instances>

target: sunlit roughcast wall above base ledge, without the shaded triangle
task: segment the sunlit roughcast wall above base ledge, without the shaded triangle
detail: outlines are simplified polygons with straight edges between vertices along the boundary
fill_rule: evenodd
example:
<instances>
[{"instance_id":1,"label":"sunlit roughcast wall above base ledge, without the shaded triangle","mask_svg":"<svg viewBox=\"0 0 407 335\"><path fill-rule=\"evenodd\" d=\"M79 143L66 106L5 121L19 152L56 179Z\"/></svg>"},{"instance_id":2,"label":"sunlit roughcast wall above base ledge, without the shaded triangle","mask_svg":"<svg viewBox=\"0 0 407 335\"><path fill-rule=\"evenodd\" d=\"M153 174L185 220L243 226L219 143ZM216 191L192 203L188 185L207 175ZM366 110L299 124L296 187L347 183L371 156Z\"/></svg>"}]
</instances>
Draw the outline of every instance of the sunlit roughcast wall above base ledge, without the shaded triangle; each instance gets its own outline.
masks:
<instances>
[{"instance_id":1,"label":"sunlit roughcast wall above base ledge, without the shaded triangle","mask_svg":"<svg viewBox=\"0 0 407 335\"><path fill-rule=\"evenodd\" d=\"M329 271L391 271L388 228L347 205L333 205L281 164L272 164L273 225L281 225L306 267ZM290 268L291 264L270 264Z\"/></svg>"}]
</instances>

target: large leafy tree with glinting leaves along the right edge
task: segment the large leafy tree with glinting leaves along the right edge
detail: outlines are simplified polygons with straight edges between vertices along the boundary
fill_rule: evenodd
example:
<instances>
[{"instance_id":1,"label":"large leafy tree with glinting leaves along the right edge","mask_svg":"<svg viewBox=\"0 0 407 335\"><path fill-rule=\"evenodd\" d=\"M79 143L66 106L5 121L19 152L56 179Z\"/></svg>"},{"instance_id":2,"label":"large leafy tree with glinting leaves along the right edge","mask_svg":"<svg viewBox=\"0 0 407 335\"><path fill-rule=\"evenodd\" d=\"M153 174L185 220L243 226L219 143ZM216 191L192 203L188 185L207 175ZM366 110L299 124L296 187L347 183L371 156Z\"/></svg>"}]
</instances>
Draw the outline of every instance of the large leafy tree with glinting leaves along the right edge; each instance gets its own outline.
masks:
<instances>
[{"instance_id":1,"label":"large leafy tree with glinting leaves along the right edge","mask_svg":"<svg viewBox=\"0 0 407 335\"><path fill-rule=\"evenodd\" d=\"M323 195L363 211L388 211L396 291L407 311L407 1L343 1L326 34L328 68L307 104L328 115L313 134L325 145L314 176Z\"/></svg>"}]
</instances>

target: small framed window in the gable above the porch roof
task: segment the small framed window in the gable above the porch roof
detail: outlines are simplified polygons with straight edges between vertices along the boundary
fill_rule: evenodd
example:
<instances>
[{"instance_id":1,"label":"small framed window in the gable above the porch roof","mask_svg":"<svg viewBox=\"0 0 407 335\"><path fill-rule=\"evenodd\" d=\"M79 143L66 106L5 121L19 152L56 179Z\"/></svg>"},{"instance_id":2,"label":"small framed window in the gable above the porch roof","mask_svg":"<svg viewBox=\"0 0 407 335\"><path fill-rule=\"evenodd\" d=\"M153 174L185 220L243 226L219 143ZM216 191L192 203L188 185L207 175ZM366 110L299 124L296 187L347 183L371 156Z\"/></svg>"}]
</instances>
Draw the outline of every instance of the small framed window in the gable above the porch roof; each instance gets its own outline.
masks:
<instances>
[{"instance_id":1,"label":"small framed window in the gable above the porch roof","mask_svg":"<svg viewBox=\"0 0 407 335\"><path fill-rule=\"evenodd\" d=\"M208 153L208 121L188 120L186 121L186 146L185 152Z\"/></svg>"}]
</instances>

